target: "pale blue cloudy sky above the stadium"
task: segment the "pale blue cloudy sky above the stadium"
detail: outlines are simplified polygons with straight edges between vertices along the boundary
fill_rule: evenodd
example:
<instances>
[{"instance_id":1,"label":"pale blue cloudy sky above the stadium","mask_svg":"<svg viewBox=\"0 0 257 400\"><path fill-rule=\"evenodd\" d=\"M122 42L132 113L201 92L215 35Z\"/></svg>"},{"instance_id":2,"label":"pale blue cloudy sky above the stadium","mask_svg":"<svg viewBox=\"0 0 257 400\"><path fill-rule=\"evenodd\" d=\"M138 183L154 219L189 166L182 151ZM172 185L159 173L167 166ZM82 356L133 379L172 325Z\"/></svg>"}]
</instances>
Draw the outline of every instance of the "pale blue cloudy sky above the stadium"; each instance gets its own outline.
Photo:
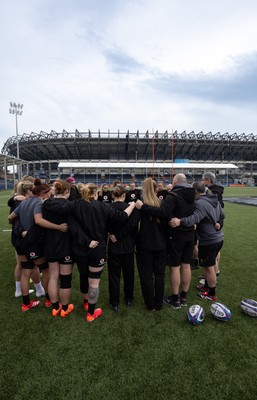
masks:
<instances>
[{"instance_id":1,"label":"pale blue cloudy sky above the stadium","mask_svg":"<svg viewBox=\"0 0 257 400\"><path fill-rule=\"evenodd\" d=\"M257 134L256 0L0 0L0 150L19 133Z\"/></svg>"}]
</instances>

